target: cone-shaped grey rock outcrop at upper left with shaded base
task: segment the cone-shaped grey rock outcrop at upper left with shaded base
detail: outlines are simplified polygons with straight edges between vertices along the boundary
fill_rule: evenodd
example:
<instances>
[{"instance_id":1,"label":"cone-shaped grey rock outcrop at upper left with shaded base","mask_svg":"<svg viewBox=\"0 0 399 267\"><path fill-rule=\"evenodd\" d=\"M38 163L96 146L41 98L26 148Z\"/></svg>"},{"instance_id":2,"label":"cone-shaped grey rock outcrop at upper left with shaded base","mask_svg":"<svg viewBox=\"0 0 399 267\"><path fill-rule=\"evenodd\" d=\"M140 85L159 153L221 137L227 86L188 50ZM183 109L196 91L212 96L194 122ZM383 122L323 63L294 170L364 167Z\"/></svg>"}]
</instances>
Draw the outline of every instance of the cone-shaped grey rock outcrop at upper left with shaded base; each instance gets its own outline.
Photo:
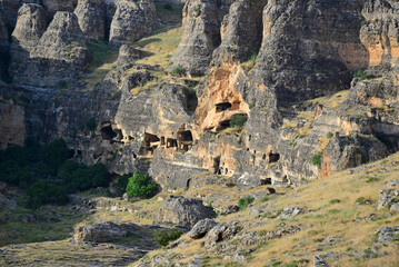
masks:
<instances>
[{"instance_id":1,"label":"cone-shaped grey rock outcrop at upper left with shaded base","mask_svg":"<svg viewBox=\"0 0 399 267\"><path fill-rule=\"evenodd\" d=\"M66 87L82 73L89 59L76 14L58 12L29 56L12 53L12 70L18 85Z\"/></svg>"}]
</instances>

